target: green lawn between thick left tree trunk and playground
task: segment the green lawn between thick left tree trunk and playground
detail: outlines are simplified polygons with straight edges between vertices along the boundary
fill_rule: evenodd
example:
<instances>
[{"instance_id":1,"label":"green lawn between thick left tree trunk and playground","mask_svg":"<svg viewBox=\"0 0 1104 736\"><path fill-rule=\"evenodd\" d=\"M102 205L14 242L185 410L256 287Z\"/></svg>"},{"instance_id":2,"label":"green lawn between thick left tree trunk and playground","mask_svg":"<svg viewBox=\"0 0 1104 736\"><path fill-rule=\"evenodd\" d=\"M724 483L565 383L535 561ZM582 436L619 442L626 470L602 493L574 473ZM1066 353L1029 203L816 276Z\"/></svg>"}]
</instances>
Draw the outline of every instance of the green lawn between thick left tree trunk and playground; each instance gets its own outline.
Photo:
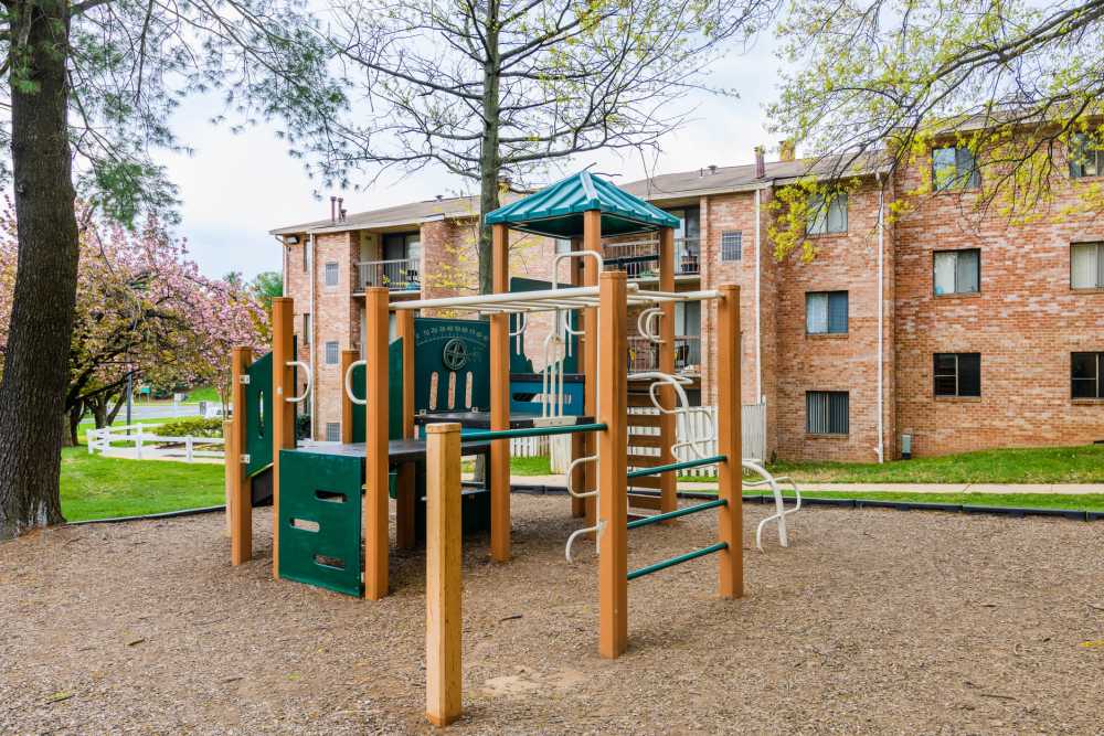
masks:
<instances>
[{"instance_id":1,"label":"green lawn between thick left tree trunk and playground","mask_svg":"<svg viewBox=\"0 0 1104 736\"><path fill-rule=\"evenodd\" d=\"M68 521L135 516L219 505L223 468L212 463L125 460L62 450L62 513Z\"/></svg>"}]
</instances>

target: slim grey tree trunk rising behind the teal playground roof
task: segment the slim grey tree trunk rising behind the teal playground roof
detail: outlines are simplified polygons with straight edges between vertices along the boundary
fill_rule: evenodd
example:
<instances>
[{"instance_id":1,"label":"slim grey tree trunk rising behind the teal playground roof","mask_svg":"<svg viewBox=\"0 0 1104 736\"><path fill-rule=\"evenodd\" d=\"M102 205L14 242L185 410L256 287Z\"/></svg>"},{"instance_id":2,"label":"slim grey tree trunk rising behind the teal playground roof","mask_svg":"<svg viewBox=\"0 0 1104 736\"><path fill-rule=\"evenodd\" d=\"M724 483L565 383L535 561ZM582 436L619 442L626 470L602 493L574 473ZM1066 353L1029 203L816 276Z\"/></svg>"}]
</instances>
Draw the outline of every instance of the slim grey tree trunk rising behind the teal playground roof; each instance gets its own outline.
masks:
<instances>
[{"instance_id":1,"label":"slim grey tree trunk rising behind the teal playground roof","mask_svg":"<svg viewBox=\"0 0 1104 736\"><path fill-rule=\"evenodd\" d=\"M501 60L498 53L498 3L487 3L487 62L484 64L484 136L479 150L479 292L493 291L491 281L491 228L487 213L499 206L498 186L501 160L498 150L499 85Z\"/></svg>"}]
</instances>

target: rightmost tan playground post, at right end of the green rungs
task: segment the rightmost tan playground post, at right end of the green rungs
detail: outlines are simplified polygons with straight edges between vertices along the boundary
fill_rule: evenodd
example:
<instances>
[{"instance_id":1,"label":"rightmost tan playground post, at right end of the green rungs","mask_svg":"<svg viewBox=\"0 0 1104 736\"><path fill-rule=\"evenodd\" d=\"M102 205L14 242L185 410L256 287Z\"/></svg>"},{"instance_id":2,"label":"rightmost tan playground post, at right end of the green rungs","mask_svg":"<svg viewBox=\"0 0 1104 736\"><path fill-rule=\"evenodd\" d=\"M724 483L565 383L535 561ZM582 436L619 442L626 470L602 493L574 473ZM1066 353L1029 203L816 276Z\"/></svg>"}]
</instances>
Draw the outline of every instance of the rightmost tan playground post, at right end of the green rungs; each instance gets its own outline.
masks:
<instances>
[{"instance_id":1,"label":"rightmost tan playground post, at right end of the green rungs","mask_svg":"<svg viewBox=\"0 0 1104 736\"><path fill-rule=\"evenodd\" d=\"M740 287L722 285L716 303L716 451L728 458L718 466L718 494L726 504L716 518L718 541L728 544L718 556L718 594L744 595L743 448L740 406Z\"/></svg>"}]
</instances>

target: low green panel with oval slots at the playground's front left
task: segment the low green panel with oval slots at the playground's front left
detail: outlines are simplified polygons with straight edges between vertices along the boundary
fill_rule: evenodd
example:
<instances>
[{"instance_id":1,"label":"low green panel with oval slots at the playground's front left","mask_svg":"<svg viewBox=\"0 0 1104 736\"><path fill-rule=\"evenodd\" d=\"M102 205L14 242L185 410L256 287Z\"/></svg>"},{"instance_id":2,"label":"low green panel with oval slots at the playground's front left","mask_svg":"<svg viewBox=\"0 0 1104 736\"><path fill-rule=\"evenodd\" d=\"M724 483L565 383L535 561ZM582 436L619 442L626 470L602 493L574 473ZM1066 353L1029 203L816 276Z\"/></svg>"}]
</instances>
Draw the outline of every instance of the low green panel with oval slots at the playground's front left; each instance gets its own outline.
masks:
<instances>
[{"instance_id":1,"label":"low green panel with oval slots at the playground's front left","mask_svg":"<svg viewBox=\"0 0 1104 736\"><path fill-rule=\"evenodd\" d=\"M363 459L280 452L280 577L360 596Z\"/></svg>"}]
</instances>

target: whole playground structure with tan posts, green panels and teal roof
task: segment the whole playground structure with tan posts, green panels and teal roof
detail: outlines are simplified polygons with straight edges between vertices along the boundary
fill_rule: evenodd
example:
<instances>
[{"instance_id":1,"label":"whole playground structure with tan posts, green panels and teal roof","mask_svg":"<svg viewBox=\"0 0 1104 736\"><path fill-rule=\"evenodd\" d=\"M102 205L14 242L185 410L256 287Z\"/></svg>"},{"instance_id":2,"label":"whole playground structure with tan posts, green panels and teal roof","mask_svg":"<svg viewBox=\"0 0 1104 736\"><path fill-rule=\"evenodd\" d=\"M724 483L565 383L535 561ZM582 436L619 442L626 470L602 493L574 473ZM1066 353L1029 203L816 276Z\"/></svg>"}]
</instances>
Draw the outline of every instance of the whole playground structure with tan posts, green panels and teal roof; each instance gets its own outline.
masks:
<instances>
[{"instance_id":1,"label":"whole playground structure with tan posts, green panels and teal roof","mask_svg":"<svg viewBox=\"0 0 1104 736\"><path fill-rule=\"evenodd\" d=\"M227 457L232 487L232 562L252 557L252 506L272 500L273 574L350 595L388 594L389 498L395 500L396 546L427 545L427 714L445 724L459 714L459 548L463 531L488 531L491 557L511 556L509 441L570 435L571 513L584 526L565 541L594 537L598 547L598 651L620 655L628 642L630 580L705 555L718 557L718 593L744 591L742 472L775 491L779 541L788 544L777 480L741 452L740 289L677 292L673 216L583 172L488 215L493 226L490 295L390 302L385 288L365 295L364 360L342 353L342 441L296 446L296 372L290 299L273 305L273 351L253 361L234 353L234 417ZM560 254L572 284L509 278L509 231L570 238ZM641 290L625 266L603 262L603 237L659 233L659 284ZM694 412L675 375L673 306L703 301L718 317L715 437L679 442L676 420ZM437 319L418 310L488 317ZM658 346L658 370L628 373L629 310ZM389 340L394 312L397 337ZM524 355L529 316L552 312L540 373ZM511 341L513 348L511 349ZM629 414L651 406L656 414ZM418 437L421 426L422 437ZM634 428L658 428L656 434ZM705 455L704 440L714 440ZM460 458L487 457L486 478L460 482ZM679 470L715 466L712 501L678 508ZM638 511L637 511L638 510ZM716 511L718 541L627 569L628 533L687 514ZM796 509L795 509L796 510ZM633 513L630 513L630 511ZM646 511L650 513L639 513ZM630 518L631 516L631 518ZM765 523L765 522L764 522ZM756 543L763 524L756 534ZM361 553L363 550L363 553Z\"/></svg>"}]
</instances>

